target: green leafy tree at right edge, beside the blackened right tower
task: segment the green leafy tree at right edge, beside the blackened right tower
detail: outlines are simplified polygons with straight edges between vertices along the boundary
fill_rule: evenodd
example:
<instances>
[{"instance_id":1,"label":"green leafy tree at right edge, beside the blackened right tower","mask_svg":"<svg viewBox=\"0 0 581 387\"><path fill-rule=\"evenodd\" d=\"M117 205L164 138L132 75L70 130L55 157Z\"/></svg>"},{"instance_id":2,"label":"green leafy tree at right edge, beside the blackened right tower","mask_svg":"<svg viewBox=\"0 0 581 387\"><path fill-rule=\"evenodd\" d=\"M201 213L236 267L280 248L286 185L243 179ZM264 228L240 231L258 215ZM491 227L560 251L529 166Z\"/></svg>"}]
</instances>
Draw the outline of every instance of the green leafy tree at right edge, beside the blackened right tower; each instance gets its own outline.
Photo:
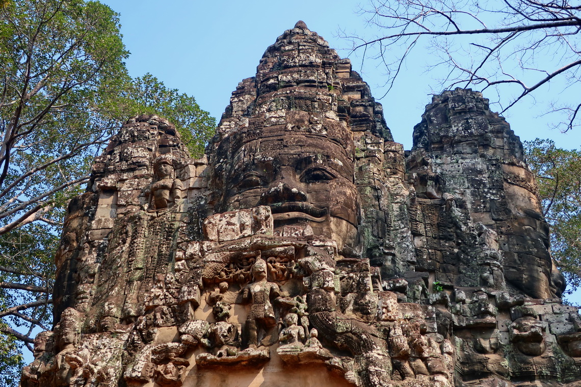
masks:
<instances>
[{"instance_id":1,"label":"green leafy tree at right edge, beside the blackened right tower","mask_svg":"<svg viewBox=\"0 0 581 387\"><path fill-rule=\"evenodd\" d=\"M524 145L551 226L551 255L575 290L581 284L581 153L557 148L552 140Z\"/></svg>"}]
</instances>

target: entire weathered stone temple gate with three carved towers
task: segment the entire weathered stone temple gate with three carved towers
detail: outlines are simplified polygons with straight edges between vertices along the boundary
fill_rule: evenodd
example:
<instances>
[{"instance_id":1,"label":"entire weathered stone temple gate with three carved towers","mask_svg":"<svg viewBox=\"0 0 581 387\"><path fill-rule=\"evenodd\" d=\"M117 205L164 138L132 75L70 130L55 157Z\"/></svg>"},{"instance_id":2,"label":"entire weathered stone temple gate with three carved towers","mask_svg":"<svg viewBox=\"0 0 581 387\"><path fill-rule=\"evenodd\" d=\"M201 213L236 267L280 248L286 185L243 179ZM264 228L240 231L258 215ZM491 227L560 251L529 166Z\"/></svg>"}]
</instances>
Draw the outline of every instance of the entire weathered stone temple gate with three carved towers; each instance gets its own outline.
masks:
<instances>
[{"instance_id":1,"label":"entire weathered stone temple gate with three carved towers","mask_svg":"<svg viewBox=\"0 0 581 387\"><path fill-rule=\"evenodd\" d=\"M199 160L141 115L69 205L21 386L581 385L581 321L522 145L478 92L394 143L302 22Z\"/></svg>"}]
</instances>

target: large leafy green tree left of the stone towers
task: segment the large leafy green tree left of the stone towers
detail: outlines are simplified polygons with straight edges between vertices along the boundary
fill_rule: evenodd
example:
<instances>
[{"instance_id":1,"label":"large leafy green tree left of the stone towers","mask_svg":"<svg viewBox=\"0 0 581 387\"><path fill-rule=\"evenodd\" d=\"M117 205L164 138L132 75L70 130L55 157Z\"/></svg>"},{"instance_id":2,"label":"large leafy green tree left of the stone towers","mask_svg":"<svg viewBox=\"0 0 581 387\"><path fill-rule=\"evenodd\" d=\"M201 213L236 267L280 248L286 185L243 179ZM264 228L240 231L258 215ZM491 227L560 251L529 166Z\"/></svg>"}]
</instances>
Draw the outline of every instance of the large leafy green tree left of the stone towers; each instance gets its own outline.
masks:
<instances>
[{"instance_id":1,"label":"large leafy green tree left of the stone towers","mask_svg":"<svg viewBox=\"0 0 581 387\"><path fill-rule=\"evenodd\" d=\"M119 15L102 3L0 1L0 19L1 380L21 361L15 339L30 348L34 328L50 328L67 201L123 120L167 117L198 155L214 118L150 74L128 76Z\"/></svg>"}]
</instances>

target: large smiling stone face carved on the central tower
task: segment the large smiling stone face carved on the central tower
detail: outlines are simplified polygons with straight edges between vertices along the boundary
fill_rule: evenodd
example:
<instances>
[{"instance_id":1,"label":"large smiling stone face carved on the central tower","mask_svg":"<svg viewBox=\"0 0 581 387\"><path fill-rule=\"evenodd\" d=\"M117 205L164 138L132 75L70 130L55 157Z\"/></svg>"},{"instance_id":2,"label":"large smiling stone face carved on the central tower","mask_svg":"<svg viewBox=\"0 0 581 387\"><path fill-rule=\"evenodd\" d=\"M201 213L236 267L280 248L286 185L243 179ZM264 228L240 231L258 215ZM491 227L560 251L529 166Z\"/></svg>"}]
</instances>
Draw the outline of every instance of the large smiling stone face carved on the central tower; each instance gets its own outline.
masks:
<instances>
[{"instance_id":1,"label":"large smiling stone face carved on the central tower","mask_svg":"<svg viewBox=\"0 0 581 387\"><path fill-rule=\"evenodd\" d=\"M353 247L358 199L349 150L325 136L263 129L241 136L224 173L222 209L269 205L275 230L306 230Z\"/></svg>"}]
</instances>

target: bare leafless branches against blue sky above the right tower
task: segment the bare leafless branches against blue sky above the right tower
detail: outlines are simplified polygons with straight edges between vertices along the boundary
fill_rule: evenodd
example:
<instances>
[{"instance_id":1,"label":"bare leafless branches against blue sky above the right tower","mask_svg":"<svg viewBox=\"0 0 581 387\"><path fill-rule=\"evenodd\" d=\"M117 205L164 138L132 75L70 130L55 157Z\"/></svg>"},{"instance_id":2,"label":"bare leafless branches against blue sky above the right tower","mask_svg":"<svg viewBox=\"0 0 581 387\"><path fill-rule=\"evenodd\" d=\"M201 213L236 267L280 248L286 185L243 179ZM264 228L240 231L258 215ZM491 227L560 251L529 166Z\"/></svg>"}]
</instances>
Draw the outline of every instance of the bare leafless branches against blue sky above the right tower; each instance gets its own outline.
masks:
<instances>
[{"instance_id":1,"label":"bare leafless branches against blue sky above the right tower","mask_svg":"<svg viewBox=\"0 0 581 387\"><path fill-rule=\"evenodd\" d=\"M418 46L431 74L443 74L434 88L472 87L498 93L501 113L526 96L548 90L546 113L559 113L554 126L581 125L578 87L581 66L581 6L539 0L370 0L361 9L372 38L346 36L354 50L379 59L393 81ZM417 60L415 58L414 60ZM438 70L442 70L441 72ZM573 101L564 93L569 89ZM489 93L490 95L490 93Z\"/></svg>"}]
</instances>

